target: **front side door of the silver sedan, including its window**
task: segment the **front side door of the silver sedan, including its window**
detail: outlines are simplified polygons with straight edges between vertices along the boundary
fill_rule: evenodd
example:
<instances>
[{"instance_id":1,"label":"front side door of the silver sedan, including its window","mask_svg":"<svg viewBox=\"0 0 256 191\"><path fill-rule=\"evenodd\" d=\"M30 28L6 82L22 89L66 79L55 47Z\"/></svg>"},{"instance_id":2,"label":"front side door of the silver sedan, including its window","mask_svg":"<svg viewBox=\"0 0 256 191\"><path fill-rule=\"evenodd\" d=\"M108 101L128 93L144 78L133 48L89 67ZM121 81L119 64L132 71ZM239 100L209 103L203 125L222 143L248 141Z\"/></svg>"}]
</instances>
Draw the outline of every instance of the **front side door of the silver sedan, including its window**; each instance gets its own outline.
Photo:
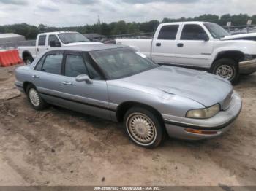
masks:
<instances>
[{"instance_id":1,"label":"front side door of the silver sedan, including its window","mask_svg":"<svg viewBox=\"0 0 256 191\"><path fill-rule=\"evenodd\" d=\"M81 52L68 51L64 55L64 94L66 106L85 114L110 119L108 89L89 60ZM77 82L75 77L87 74L92 83Z\"/></svg>"}]
</instances>

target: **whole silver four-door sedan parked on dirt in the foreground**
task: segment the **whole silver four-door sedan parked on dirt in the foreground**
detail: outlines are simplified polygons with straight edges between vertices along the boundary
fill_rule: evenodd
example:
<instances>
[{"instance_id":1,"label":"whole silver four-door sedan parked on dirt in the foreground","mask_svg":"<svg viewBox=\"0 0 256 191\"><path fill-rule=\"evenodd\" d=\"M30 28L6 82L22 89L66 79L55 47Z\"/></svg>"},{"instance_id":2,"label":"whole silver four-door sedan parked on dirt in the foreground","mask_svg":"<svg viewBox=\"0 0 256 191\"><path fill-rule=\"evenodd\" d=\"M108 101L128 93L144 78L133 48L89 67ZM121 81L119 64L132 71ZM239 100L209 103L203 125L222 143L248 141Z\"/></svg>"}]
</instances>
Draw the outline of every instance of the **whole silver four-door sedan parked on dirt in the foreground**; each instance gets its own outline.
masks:
<instances>
[{"instance_id":1,"label":"whole silver four-door sedan parked on dirt in the foreground","mask_svg":"<svg viewBox=\"0 0 256 191\"><path fill-rule=\"evenodd\" d=\"M15 74L15 85L34 109L53 104L123 122L129 138L142 147L157 147L165 135L219 136L241 111L241 98L227 80L159 66L125 46L49 50Z\"/></svg>"}]
</instances>

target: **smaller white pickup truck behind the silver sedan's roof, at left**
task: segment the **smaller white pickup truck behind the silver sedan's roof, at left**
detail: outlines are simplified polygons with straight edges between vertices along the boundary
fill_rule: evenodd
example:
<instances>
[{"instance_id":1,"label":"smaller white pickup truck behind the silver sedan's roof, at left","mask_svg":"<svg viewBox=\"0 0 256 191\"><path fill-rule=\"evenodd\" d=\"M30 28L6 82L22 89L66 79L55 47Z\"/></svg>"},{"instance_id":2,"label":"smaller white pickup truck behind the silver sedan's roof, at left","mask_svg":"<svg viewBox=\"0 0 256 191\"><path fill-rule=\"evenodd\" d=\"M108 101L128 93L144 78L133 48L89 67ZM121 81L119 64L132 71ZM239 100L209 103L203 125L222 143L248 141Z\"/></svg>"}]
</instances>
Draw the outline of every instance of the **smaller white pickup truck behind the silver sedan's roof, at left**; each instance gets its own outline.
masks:
<instances>
[{"instance_id":1,"label":"smaller white pickup truck behind the silver sedan's roof, at left","mask_svg":"<svg viewBox=\"0 0 256 191\"><path fill-rule=\"evenodd\" d=\"M86 44L102 44L100 42L90 42L85 36L78 32L62 31L50 32L37 35L36 46L34 47L18 47L20 58L28 64L34 61L34 58L40 52L53 47L70 47Z\"/></svg>"}]
</instances>

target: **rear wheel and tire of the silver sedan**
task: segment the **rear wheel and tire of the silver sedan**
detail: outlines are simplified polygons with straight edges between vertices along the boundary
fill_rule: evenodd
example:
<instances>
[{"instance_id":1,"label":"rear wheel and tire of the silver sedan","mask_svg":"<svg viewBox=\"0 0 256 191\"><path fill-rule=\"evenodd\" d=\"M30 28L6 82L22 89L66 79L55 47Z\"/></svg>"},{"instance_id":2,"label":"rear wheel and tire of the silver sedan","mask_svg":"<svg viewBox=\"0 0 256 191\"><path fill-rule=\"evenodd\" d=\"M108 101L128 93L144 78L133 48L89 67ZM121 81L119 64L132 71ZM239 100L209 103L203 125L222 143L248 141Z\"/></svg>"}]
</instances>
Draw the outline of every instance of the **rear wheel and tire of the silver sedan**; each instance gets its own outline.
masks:
<instances>
[{"instance_id":1,"label":"rear wheel and tire of the silver sedan","mask_svg":"<svg viewBox=\"0 0 256 191\"><path fill-rule=\"evenodd\" d=\"M48 104L41 98L34 85L28 85L26 88L26 95L28 96L29 103L36 110L45 109Z\"/></svg>"}]
</instances>

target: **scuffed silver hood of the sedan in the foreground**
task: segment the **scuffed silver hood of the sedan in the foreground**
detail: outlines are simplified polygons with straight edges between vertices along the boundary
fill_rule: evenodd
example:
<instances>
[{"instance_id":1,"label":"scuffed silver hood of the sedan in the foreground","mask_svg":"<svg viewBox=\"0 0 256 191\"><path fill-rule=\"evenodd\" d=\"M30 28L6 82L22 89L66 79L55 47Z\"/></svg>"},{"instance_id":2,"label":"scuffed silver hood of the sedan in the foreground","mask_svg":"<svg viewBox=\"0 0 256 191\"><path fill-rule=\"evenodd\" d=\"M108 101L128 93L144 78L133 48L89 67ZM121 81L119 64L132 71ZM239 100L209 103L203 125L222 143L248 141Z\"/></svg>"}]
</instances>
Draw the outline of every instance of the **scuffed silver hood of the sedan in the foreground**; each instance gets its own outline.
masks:
<instances>
[{"instance_id":1,"label":"scuffed silver hood of the sedan in the foreground","mask_svg":"<svg viewBox=\"0 0 256 191\"><path fill-rule=\"evenodd\" d=\"M222 104L227 95L233 91L232 85L225 79L204 71L173 66L159 66L156 69L126 77L121 81L189 98L206 107L217 103Z\"/></svg>"}]
</instances>

